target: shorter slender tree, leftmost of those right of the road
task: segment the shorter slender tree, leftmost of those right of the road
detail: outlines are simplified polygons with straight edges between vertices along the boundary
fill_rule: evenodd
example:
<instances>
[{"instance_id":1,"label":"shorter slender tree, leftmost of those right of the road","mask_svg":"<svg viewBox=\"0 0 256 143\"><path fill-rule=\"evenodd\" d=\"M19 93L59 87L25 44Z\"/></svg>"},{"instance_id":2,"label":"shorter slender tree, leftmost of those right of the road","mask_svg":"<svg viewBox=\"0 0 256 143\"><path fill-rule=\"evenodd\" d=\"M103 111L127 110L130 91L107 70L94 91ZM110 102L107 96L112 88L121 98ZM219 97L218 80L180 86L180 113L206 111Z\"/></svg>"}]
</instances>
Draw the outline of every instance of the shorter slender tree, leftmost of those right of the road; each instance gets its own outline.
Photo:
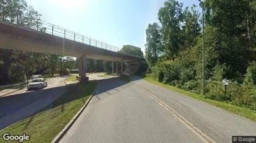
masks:
<instances>
[{"instance_id":1,"label":"shorter slender tree, leftmost of those right of the road","mask_svg":"<svg viewBox=\"0 0 256 143\"><path fill-rule=\"evenodd\" d=\"M160 27L157 23L149 24L146 29L146 61L154 66L162 51Z\"/></svg>"}]
</instances>

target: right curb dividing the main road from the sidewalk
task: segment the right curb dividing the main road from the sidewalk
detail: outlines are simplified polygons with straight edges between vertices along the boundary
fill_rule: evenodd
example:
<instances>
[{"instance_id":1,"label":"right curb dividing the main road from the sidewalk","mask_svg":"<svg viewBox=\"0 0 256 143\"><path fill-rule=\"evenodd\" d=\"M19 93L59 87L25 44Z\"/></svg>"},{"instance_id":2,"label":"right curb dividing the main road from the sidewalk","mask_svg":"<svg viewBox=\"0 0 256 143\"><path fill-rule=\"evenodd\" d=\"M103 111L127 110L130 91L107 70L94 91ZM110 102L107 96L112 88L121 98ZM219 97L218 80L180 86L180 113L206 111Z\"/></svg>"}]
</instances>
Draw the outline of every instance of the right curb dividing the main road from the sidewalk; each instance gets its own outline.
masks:
<instances>
[{"instance_id":1,"label":"right curb dividing the main road from the sidewalk","mask_svg":"<svg viewBox=\"0 0 256 143\"><path fill-rule=\"evenodd\" d=\"M133 82L130 82L130 83L133 84ZM135 84L133 84L133 85L135 85ZM149 93L145 89L139 87L138 85L135 85L135 86L138 87L138 89L143 90L143 92L146 92L149 96L154 98L154 100L156 100L156 102L158 102L159 104L163 105L167 110L171 111L171 113L173 113L175 116L177 116L183 123L185 123L187 126L189 126L189 128L192 131L194 131L198 136L202 137L205 141L211 142L211 143L215 143L215 141L211 137L209 137L206 133L201 131L201 129L197 128L194 124L192 124L190 121L188 121L182 115L180 115L175 110L173 110L170 106L166 105L164 102L162 102L158 98L154 97L154 95L152 95L151 93Z\"/></svg>"}]
</instances>

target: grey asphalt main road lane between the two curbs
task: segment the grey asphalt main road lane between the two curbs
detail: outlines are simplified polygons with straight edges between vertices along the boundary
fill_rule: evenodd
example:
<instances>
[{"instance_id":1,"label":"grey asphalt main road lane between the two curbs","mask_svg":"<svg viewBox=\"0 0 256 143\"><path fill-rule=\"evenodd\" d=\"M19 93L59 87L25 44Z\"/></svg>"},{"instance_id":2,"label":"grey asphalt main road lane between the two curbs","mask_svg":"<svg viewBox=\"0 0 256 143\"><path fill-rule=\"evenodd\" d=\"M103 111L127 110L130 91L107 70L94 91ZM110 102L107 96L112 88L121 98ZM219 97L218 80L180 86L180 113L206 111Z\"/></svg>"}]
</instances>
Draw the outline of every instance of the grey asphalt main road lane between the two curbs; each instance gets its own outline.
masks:
<instances>
[{"instance_id":1,"label":"grey asphalt main road lane between the two curbs","mask_svg":"<svg viewBox=\"0 0 256 143\"><path fill-rule=\"evenodd\" d=\"M60 142L204 142L153 98L120 79L98 81L87 108Z\"/></svg>"}]
</instances>

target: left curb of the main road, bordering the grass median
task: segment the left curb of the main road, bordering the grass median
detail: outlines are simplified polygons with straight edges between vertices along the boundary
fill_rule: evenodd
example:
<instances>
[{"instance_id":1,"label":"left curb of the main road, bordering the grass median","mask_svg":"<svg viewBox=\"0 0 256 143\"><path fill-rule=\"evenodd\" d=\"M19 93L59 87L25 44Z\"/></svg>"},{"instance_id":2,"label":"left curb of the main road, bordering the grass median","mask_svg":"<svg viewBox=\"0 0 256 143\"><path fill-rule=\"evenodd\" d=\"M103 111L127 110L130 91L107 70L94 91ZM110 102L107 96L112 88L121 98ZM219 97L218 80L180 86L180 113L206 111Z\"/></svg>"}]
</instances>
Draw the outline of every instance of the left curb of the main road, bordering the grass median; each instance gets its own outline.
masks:
<instances>
[{"instance_id":1,"label":"left curb of the main road, bordering the grass median","mask_svg":"<svg viewBox=\"0 0 256 143\"><path fill-rule=\"evenodd\" d=\"M90 95L87 102L85 102L85 105L83 105L82 108L78 111L78 113L75 116L73 116L73 118L69 121L69 123L65 126L65 128L59 132L59 134L54 138L54 140L52 140L51 143L57 143L60 141L60 139L62 139L62 137L64 137L64 135L67 133L67 131L69 131L69 129L72 127L73 123L75 123L75 121L77 121L78 117L82 114L83 110L85 110L85 107L87 107L88 103L90 102L92 97L95 95L95 92L97 89L98 89L98 82L97 82L97 87L93 91L92 95Z\"/></svg>"}]
</instances>

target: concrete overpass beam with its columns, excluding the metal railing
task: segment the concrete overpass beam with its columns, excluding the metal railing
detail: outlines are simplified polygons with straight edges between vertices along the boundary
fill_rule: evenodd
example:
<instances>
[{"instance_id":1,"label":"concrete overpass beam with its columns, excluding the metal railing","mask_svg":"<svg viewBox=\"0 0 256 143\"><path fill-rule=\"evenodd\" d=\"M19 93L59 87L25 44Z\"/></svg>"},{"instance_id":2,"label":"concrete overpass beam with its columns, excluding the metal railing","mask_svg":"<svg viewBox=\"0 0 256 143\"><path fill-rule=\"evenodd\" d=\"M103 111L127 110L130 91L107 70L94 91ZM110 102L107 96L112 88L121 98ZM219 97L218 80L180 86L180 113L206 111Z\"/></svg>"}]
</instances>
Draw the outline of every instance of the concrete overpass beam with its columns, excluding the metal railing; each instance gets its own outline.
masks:
<instances>
[{"instance_id":1,"label":"concrete overpass beam with its columns, excluding the metal railing","mask_svg":"<svg viewBox=\"0 0 256 143\"><path fill-rule=\"evenodd\" d=\"M14 25L2 24L0 22L0 48L9 50L31 51L36 53L60 54L73 56L80 59L78 80L87 82L86 61L89 59L103 59L107 61L121 61L121 75L123 72L123 62L134 62L143 60L116 53L114 51L97 48L77 41L38 32L30 28L15 27Z\"/></svg>"}]
</instances>

